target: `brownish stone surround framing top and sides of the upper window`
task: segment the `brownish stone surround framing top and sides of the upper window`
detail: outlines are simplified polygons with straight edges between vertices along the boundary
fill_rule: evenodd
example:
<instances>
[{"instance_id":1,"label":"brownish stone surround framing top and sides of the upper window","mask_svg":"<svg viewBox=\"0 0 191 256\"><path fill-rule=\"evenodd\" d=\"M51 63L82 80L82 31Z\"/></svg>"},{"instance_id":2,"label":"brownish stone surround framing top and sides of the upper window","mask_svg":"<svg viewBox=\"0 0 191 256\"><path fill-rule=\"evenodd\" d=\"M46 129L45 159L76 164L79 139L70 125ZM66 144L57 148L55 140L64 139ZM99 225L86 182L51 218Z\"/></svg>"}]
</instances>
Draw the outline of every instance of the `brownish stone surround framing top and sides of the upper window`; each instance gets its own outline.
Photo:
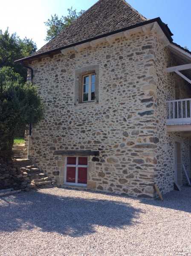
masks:
<instances>
[{"instance_id":1,"label":"brownish stone surround framing top and sides of the upper window","mask_svg":"<svg viewBox=\"0 0 191 256\"><path fill-rule=\"evenodd\" d=\"M75 96L74 102L82 103L82 78L84 75L95 73L95 97L99 101L99 65L90 65L75 70Z\"/></svg>"}]
</instances>

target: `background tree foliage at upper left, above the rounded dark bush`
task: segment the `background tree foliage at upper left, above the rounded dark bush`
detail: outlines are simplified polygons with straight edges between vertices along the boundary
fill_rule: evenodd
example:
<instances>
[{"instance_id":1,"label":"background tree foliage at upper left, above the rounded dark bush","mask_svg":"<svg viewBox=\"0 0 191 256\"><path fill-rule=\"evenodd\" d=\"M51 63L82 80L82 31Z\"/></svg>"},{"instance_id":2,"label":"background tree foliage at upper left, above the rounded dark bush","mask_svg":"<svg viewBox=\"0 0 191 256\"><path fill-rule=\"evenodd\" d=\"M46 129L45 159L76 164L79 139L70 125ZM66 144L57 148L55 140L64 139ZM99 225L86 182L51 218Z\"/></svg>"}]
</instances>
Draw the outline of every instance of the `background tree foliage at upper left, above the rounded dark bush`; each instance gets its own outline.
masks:
<instances>
[{"instance_id":1,"label":"background tree foliage at upper left, above the rounded dark bush","mask_svg":"<svg viewBox=\"0 0 191 256\"><path fill-rule=\"evenodd\" d=\"M27 38L23 40L16 33L9 35L8 28L3 33L0 29L0 68L12 67L26 81L27 69L14 61L24 58L37 50L36 44Z\"/></svg>"}]
</instances>

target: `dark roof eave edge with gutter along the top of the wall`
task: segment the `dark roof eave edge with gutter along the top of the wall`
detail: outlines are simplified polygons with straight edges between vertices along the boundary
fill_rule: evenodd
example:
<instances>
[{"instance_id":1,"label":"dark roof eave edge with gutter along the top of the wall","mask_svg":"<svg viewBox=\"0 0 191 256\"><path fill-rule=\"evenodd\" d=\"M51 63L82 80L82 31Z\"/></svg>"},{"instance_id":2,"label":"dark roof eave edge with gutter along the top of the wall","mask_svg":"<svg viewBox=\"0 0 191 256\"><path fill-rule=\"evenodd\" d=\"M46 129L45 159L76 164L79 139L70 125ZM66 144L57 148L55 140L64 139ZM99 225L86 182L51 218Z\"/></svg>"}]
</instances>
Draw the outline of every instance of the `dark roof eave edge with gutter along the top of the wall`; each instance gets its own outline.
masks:
<instances>
[{"instance_id":1,"label":"dark roof eave edge with gutter along the top of the wall","mask_svg":"<svg viewBox=\"0 0 191 256\"><path fill-rule=\"evenodd\" d=\"M109 33L106 33L106 34L103 34L103 35L98 35L98 36L93 37L93 38L88 38L88 39L86 39L84 41L79 41L77 43L69 44L69 45L64 46L64 47L55 48L55 49L52 49L50 51L42 52L42 53L39 53L39 54L36 54L36 55L31 55L31 56L28 56L28 57L16 60L15 62L28 61L28 60L30 60L32 58L39 58L39 57L41 57L43 55L48 55L48 54L51 54L53 52L61 51L63 49L67 49L67 48L70 48L70 47L75 47L75 46L80 45L80 44L85 44L85 43L88 43L90 41L94 41L94 40L97 40L97 39L100 39L100 38L108 37L110 35L114 35L114 34L117 34L117 33L120 33L120 32L124 32L124 31L130 30L130 29L138 28L140 26L145 26L147 24L154 23L154 22L158 23L158 25L162 29L163 33L165 34L166 38L168 39L168 41L172 42L173 39L171 38L171 34L168 32L168 29L165 27L165 25L162 22L162 20L160 19L160 17L157 17L155 19L146 20L146 21L144 21L142 23L138 23L138 24L135 24L133 26L124 27L122 29L118 29L118 30L115 30L115 31L112 31L112 32L109 32Z\"/></svg>"}]
</instances>

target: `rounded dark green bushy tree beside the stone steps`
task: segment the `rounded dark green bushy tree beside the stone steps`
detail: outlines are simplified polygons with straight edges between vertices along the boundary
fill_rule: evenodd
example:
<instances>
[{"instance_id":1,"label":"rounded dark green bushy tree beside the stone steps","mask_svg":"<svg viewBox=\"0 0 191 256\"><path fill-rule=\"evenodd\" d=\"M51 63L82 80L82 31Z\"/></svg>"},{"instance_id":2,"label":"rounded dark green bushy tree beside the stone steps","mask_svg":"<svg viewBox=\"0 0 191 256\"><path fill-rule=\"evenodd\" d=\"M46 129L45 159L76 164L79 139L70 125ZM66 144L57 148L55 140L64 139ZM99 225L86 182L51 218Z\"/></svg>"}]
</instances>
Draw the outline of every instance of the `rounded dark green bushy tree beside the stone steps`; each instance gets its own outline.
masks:
<instances>
[{"instance_id":1,"label":"rounded dark green bushy tree beside the stone steps","mask_svg":"<svg viewBox=\"0 0 191 256\"><path fill-rule=\"evenodd\" d=\"M29 123L38 124L44 117L45 105L33 84L6 80L0 90L0 157L9 159L15 134Z\"/></svg>"}]
</instances>

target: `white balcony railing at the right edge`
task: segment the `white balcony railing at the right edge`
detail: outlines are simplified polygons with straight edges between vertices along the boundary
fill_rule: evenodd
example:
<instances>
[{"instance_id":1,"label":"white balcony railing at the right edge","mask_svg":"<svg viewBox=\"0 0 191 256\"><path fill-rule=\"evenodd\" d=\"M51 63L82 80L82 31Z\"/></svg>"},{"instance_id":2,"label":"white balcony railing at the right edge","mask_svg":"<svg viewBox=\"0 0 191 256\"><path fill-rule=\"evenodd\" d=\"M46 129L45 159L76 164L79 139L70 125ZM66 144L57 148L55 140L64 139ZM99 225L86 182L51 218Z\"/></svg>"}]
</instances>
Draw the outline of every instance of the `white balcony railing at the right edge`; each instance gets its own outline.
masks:
<instances>
[{"instance_id":1,"label":"white balcony railing at the right edge","mask_svg":"<svg viewBox=\"0 0 191 256\"><path fill-rule=\"evenodd\" d=\"M191 99L167 101L167 125L191 124Z\"/></svg>"}]
</instances>

